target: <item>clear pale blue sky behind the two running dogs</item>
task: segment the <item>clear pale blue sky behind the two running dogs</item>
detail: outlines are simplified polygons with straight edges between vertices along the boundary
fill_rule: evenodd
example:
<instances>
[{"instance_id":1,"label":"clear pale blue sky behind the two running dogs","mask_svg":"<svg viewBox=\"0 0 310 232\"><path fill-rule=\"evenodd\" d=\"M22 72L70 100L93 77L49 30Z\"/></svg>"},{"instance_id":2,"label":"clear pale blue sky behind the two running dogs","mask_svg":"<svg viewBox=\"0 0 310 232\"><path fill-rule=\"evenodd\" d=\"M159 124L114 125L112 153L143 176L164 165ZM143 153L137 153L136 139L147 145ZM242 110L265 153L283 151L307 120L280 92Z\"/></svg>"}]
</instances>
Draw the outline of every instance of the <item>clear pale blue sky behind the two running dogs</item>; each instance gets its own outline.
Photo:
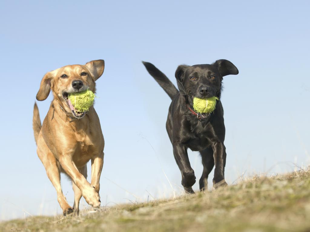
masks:
<instances>
[{"instance_id":1,"label":"clear pale blue sky behind the two running dogs","mask_svg":"<svg viewBox=\"0 0 310 232\"><path fill-rule=\"evenodd\" d=\"M24 211L61 213L36 154L33 104L46 72L94 59L105 60L95 102L105 138L104 206L141 202L149 193L155 198L182 193L165 128L170 98L142 60L173 83L179 64L228 59L237 66L239 75L224 77L221 98L229 184L242 174L309 165L309 6L308 1L1 1L0 219L24 217ZM51 100L38 102L42 120ZM188 153L198 180L201 159ZM209 185L212 178L213 172ZM72 204L65 177L62 186ZM82 201L81 207L86 205Z\"/></svg>"}]
</instances>

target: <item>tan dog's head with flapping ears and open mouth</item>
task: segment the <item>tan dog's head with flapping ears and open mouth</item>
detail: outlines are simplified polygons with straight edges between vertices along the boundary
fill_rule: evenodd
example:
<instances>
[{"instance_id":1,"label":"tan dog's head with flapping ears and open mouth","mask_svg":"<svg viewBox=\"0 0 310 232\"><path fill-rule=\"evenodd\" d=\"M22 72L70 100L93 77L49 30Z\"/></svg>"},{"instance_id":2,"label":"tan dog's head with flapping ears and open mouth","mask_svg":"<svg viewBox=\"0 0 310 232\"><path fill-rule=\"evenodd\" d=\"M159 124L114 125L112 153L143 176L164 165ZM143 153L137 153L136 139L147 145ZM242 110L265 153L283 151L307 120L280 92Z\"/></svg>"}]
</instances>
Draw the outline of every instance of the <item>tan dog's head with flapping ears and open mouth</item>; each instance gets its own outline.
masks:
<instances>
[{"instance_id":1,"label":"tan dog's head with flapping ears and open mouth","mask_svg":"<svg viewBox=\"0 0 310 232\"><path fill-rule=\"evenodd\" d=\"M71 110L68 95L87 89L95 92L95 81L102 75L103 71L104 60L93 60L85 65L67 65L48 72L41 81L37 100L45 100L52 90L55 100L67 113L72 114L75 118L82 118L85 112Z\"/></svg>"}]
</instances>

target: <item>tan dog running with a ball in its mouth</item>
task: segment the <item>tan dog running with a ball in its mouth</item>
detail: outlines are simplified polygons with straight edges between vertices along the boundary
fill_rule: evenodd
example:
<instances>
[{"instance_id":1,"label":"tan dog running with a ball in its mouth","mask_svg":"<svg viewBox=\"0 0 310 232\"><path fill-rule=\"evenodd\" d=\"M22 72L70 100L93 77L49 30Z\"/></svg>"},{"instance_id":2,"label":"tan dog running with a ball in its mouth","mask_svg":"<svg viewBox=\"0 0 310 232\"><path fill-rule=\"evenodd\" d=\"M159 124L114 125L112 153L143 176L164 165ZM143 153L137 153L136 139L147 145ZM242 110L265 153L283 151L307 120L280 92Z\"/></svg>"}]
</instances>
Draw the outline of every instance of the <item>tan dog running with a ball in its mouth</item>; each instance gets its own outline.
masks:
<instances>
[{"instance_id":1,"label":"tan dog running with a ball in its mouth","mask_svg":"<svg viewBox=\"0 0 310 232\"><path fill-rule=\"evenodd\" d=\"M42 127L38 106L33 109L33 131L38 157L57 191L57 200L64 215L79 212L83 196L94 208L100 207L100 174L103 166L104 138L93 106L88 112L77 112L68 101L68 94L90 89L104 71L104 60L85 65L68 65L44 75L37 100L45 100L52 90L54 99ZM91 183L86 180L86 163L91 159ZM68 204L60 185L60 172L72 180L73 208Z\"/></svg>"}]
</instances>

